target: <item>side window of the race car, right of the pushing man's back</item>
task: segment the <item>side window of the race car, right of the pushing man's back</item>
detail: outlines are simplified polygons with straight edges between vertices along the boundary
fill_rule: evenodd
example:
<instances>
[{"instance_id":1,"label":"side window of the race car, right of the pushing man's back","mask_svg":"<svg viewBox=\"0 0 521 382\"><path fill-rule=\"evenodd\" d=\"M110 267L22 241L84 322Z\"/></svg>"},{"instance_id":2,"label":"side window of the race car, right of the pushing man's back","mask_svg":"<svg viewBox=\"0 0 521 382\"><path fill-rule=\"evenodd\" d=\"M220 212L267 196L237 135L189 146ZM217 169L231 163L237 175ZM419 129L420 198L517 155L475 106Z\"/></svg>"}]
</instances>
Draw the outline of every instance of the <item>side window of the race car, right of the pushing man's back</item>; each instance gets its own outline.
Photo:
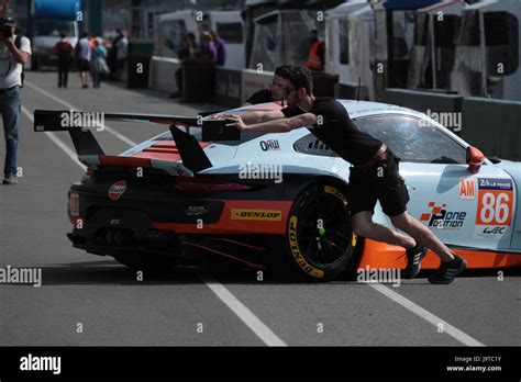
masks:
<instances>
[{"instance_id":1,"label":"side window of the race car, right of the pushing man's back","mask_svg":"<svg viewBox=\"0 0 521 382\"><path fill-rule=\"evenodd\" d=\"M465 148L425 120L378 115L354 122L363 132L387 144L402 161L466 164Z\"/></svg>"}]
</instances>

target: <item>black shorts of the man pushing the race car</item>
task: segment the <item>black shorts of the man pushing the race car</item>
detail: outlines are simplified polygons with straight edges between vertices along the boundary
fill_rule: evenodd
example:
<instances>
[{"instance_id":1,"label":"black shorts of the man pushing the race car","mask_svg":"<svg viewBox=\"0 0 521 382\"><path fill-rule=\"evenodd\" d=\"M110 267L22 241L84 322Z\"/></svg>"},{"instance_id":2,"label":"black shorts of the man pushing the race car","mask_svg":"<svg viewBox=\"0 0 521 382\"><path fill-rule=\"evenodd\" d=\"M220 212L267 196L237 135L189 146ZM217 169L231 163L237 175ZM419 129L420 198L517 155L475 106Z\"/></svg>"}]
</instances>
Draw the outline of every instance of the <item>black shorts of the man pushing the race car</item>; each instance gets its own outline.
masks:
<instances>
[{"instance_id":1,"label":"black shorts of the man pushing the race car","mask_svg":"<svg viewBox=\"0 0 521 382\"><path fill-rule=\"evenodd\" d=\"M377 200L388 216L397 216L407 211L409 192L400 177L398 160L390 153L387 159L368 168L351 168L348 200L352 215L362 211L374 213Z\"/></svg>"}]
</instances>

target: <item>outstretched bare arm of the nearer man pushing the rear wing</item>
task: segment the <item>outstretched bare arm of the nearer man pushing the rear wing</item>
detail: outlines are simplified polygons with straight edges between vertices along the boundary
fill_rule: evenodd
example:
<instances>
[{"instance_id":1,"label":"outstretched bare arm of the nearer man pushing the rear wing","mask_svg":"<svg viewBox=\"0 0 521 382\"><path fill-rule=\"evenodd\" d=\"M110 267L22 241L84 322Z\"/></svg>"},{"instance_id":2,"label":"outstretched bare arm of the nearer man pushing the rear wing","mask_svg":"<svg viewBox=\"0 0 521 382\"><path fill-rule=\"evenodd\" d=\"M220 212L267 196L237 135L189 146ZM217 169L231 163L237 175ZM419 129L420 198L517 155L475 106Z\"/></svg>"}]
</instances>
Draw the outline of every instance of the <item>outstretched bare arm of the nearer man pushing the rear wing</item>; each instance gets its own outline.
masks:
<instances>
[{"instance_id":1,"label":"outstretched bare arm of the nearer man pushing the rear wing","mask_svg":"<svg viewBox=\"0 0 521 382\"><path fill-rule=\"evenodd\" d=\"M280 114L282 114L280 112ZM312 113L304 113L291 117L275 119L268 122L260 122L254 124L246 124L243 115L232 115L229 120L233 122L226 126L234 126L242 132L259 132L259 133L287 133L296 128L306 127L317 123L317 115Z\"/></svg>"}]
</instances>

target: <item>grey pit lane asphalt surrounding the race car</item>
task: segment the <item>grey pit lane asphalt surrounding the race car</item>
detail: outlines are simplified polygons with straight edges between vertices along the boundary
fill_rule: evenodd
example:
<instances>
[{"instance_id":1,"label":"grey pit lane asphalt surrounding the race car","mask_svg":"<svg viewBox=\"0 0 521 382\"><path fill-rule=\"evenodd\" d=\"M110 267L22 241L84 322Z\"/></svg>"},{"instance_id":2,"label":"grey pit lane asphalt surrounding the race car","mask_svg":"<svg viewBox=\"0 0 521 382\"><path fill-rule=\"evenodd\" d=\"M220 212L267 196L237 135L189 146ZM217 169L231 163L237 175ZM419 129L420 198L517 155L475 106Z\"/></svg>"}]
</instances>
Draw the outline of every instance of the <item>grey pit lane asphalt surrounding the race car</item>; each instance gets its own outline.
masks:
<instances>
[{"instance_id":1,"label":"grey pit lane asphalt surrounding the race car","mask_svg":"<svg viewBox=\"0 0 521 382\"><path fill-rule=\"evenodd\" d=\"M80 89L76 74L69 81L68 89L58 89L55 74L27 72L24 108L31 113L67 109L48 92L84 111L195 115L214 109L112 83ZM148 124L108 125L136 143L165 131ZM129 147L107 132L96 135L108 153ZM66 133L56 136L74 150ZM20 184L0 187L0 267L41 267L43 285L0 284L0 345L264 345L266 330L252 330L252 316L241 314L245 308L290 346L462 345L461 336L439 333L437 318L485 345L521 345L519 271L508 272L505 281L495 272L479 272L451 285L431 285L421 274L399 288L384 286L408 299L409 308L389 293L348 279L292 284L258 282L253 272L213 274L243 307L219 299L197 269L145 272L144 281L137 281L134 271L111 257L70 247L66 194L82 171L44 134L33 133L25 114L19 156ZM418 306L430 316L421 316Z\"/></svg>"}]
</instances>

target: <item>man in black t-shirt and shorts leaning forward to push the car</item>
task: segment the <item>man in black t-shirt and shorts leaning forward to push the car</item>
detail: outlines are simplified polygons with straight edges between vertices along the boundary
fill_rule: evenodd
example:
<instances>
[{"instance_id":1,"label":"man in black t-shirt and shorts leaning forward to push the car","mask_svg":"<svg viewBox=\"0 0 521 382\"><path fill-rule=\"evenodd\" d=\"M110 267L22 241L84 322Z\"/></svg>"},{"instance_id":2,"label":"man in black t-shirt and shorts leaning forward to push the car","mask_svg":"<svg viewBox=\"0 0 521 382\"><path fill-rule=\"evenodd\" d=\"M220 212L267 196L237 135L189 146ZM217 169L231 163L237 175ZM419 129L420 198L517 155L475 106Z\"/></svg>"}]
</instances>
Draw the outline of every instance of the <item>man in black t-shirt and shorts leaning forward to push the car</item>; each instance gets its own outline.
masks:
<instances>
[{"instance_id":1,"label":"man in black t-shirt and shorts leaning forward to push the car","mask_svg":"<svg viewBox=\"0 0 521 382\"><path fill-rule=\"evenodd\" d=\"M309 69L291 67L284 77L288 108L226 116L233 120L229 125L241 131L265 133L312 126L311 133L352 165L348 196L354 232L363 237L406 248L407 268L403 277L407 279L420 271L425 247L432 249L440 257L441 266L437 272L429 277L429 281L451 283L455 276L465 270L466 261L407 213L409 193L399 175L398 158L384 143L359 131L339 101L315 98ZM373 222L377 200L392 225L410 236Z\"/></svg>"}]
</instances>

